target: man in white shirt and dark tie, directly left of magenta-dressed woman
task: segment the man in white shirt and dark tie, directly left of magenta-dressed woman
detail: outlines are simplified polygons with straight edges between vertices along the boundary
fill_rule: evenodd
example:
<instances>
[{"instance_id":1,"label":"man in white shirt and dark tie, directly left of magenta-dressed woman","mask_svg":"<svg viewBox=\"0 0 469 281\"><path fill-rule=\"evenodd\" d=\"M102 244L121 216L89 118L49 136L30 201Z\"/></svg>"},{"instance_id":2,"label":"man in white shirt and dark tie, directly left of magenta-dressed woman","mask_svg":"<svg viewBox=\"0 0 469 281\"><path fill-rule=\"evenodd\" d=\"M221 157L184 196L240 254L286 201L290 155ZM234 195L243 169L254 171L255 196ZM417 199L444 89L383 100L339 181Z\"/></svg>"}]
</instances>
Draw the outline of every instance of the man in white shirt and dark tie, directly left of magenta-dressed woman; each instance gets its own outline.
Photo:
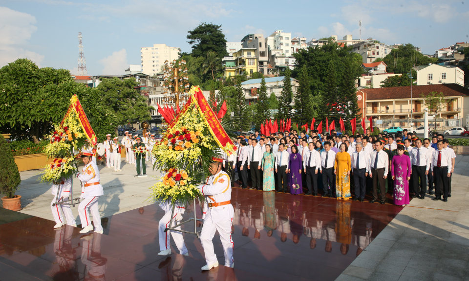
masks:
<instances>
[{"instance_id":1,"label":"man in white shirt and dark tie, directly left of magenta-dressed woman","mask_svg":"<svg viewBox=\"0 0 469 281\"><path fill-rule=\"evenodd\" d=\"M383 144L381 141L375 141L376 150L371 153L370 166L368 173L373 180L373 199L370 203L378 200L378 181L380 182L381 204L384 204L386 198L385 179L389 170L389 157L387 153L382 150Z\"/></svg>"}]
</instances>

